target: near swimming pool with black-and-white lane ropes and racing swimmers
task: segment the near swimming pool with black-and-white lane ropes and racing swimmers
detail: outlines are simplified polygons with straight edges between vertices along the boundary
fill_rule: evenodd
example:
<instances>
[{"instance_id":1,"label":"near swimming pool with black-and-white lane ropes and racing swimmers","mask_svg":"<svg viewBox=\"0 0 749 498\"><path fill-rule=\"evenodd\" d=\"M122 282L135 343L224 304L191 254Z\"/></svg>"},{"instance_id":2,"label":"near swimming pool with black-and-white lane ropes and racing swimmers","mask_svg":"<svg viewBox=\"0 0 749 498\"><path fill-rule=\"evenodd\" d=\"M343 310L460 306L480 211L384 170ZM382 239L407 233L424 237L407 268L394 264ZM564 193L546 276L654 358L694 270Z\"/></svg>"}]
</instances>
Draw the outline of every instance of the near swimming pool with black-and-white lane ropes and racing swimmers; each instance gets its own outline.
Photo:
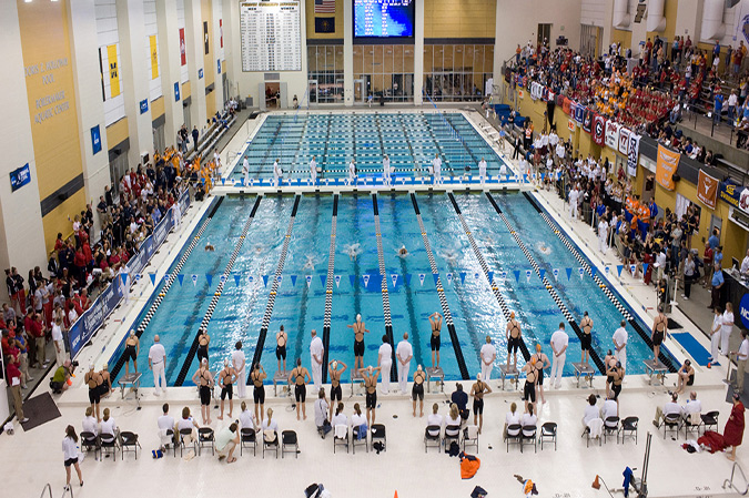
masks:
<instances>
[{"instance_id":1,"label":"near swimming pool with black-and-white lane ropes and racing swimmers","mask_svg":"<svg viewBox=\"0 0 749 498\"><path fill-rule=\"evenodd\" d=\"M595 321L594 348L604 357L611 347L611 335L623 319L621 312L589 276L578 276L579 262L523 194L490 195L509 223L514 227L522 227L518 230L519 237L539 267L547 275L551 275L555 268L559 271L558 280L553 285L571 315L579 323L583 312L590 313ZM478 372L478 352L487 335L493 337L498 349L495 366L504 363L505 316L448 195L414 194L412 199L408 194L393 193L374 199L378 207L393 335L397 342L404 332L408 332L414 346L413 368L416 364L431 365L427 317L435 311L443 313L415 206L421 212L426 238L443 283L445 304L455 324L456 346L465 362L465 365L460 365L457 360L456 348L446 327L443 327L441 364L446 379L459 379L463 377L462 372L470 376ZM530 268L528 258L495 213L488 197L462 193L455 200L478 252L495 275L494 282L502 297L517 314L526 344L533 348L536 343L540 343L544 352L550 355L550 335L559 322L566 322L560 306L550 297L537 275L526 278L526 270ZM334 197L301 196L283 265L280 264L280 256L296 199L291 195L262 197L247 235L241 240L242 227L247 223L255 201L254 196L224 197L208 223L201 242L184 261L180 271L184 275L183 283L172 285L165 293L141 335L139 366L144 372L144 386L153 385L146 365L148 348L155 334L161 336L166 348L168 383L191 384L190 377L198 368L191 346L209 303L214 297L219 276L239 243L239 256L208 324L211 368L219 368L223 359L230 356L234 343L242 341L247 360L260 356L269 379L272 379L277 369L274 349L275 333L280 325L284 325L289 333L287 365L296 357L301 357L305 365L310 364L310 331L315 328L322 334L325 319L325 284ZM353 332L346 325L361 314L371 331L365 335L364 363L376 365L386 315L381 292L373 196L340 195L336 224L328 359L335 358L353 367ZM205 252L203 241L211 242L215 252ZM399 257L397 252L403 245L408 254ZM170 273L175 265L176 262ZM571 277L567 277L565 268L573 270ZM271 308L270 293L276 271L281 280ZM516 272L519 272L517 277ZM500 277L503 273L505 278ZM549 280L553 281L553 277L549 276ZM163 282L158 282L158 292L153 293L136 323L150 313L149 308L162 292L163 285ZM631 313L630 309L628 312ZM267 338L262 352L256 353L263 318L267 313ZM628 373L641 374L641 360L649 358L651 353L629 325L627 328ZM580 347L577 336L569 327L567 331L570 342L565 375L573 375L571 362L578 360ZM118 350L112 363L121 354L122 349ZM520 355L518 362L523 364ZM348 378L348 373L344 378Z\"/></svg>"}]
</instances>

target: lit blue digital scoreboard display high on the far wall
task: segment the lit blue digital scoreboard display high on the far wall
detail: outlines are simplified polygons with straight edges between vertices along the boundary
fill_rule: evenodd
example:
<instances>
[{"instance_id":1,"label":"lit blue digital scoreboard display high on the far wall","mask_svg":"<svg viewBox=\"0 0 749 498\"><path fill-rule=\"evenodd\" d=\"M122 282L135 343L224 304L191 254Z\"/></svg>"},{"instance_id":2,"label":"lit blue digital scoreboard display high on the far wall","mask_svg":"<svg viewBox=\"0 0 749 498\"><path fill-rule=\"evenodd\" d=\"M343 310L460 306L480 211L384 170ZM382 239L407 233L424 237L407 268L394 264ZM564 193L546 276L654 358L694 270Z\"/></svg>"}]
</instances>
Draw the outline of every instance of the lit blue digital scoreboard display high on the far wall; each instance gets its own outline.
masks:
<instances>
[{"instance_id":1,"label":"lit blue digital scoreboard display high on the far wall","mask_svg":"<svg viewBox=\"0 0 749 498\"><path fill-rule=\"evenodd\" d=\"M415 0L354 0L354 38L413 38Z\"/></svg>"}]
</instances>

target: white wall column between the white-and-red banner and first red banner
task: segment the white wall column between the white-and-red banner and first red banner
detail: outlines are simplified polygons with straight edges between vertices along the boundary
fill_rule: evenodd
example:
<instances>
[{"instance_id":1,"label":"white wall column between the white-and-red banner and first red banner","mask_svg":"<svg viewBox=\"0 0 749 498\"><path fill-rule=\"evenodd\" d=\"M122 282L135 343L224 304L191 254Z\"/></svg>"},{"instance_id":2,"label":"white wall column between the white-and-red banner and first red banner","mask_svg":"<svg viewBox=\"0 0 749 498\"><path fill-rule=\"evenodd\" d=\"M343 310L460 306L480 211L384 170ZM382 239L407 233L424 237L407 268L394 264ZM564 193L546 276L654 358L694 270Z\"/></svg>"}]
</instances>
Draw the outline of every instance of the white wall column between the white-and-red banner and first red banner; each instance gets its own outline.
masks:
<instances>
[{"instance_id":1,"label":"white wall column between the white-and-red banner and first red banner","mask_svg":"<svg viewBox=\"0 0 749 498\"><path fill-rule=\"evenodd\" d=\"M161 91L164 94L164 138L166 145L175 145L176 131L182 125L182 84L180 83L180 29L176 21L176 0L156 1L159 29L159 61ZM174 84L180 87L180 100L174 100Z\"/></svg>"}]
</instances>

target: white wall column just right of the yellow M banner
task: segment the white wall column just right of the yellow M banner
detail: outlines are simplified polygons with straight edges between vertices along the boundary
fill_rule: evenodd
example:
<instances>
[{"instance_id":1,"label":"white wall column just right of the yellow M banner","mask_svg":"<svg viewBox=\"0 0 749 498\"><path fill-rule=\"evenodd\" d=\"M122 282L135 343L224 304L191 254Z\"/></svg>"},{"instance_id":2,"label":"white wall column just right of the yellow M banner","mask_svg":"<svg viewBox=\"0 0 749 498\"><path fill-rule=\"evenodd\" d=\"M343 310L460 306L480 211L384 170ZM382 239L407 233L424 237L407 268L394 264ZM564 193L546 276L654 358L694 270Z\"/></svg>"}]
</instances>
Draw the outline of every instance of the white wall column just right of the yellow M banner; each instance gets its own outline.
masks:
<instances>
[{"instance_id":1,"label":"white wall column just right of the yellow M banner","mask_svg":"<svg viewBox=\"0 0 749 498\"><path fill-rule=\"evenodd\" d=\"M145 16L142 0L118 0L117 20L120 32L120 51L122 53L121 80L123 87L125 115L130 150L128 160L134 169L144 154L153 153L153 130L146 61L150 59L148 38L145 37ZM149 59L146 59L146 57ZM148 111L141 113L142 101L149 102Z\"/></svg>"}]
</instances>

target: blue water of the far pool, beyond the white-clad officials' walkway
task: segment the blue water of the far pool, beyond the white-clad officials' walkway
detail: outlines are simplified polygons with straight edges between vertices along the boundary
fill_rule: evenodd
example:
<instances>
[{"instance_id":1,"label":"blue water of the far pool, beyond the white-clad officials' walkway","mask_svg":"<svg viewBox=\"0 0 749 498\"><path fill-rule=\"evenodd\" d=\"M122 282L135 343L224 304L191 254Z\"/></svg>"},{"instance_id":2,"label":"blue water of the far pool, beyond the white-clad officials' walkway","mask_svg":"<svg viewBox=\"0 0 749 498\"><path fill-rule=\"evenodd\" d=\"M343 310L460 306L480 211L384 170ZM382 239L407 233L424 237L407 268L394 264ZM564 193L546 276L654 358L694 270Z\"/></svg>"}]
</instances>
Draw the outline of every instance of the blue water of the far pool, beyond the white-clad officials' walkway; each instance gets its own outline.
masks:
<instances>
[{"instance_id":1,"label":"blue water of the far pool, beyond the white-clad officials' walkway","mask_svg":"<svg viewBox=\"0 0 749 498\"><path fill-rule=\"evenodd\" d=\"M250 177L270 177L279 159L284 177L310 176L310 160L322 167L318 177L343 177L347 164L356 161L358 175L382 175L382 161L388 155L396 176L413 176L432 162L435 153L443 161L443 175L478 173L486 160L488 174L499 173L502 159L457 112L452 113L365 113L365 114L272 114L247 145L231 177L242 177L243 159L250 163Z\"/></svg>"}]
</instances>

